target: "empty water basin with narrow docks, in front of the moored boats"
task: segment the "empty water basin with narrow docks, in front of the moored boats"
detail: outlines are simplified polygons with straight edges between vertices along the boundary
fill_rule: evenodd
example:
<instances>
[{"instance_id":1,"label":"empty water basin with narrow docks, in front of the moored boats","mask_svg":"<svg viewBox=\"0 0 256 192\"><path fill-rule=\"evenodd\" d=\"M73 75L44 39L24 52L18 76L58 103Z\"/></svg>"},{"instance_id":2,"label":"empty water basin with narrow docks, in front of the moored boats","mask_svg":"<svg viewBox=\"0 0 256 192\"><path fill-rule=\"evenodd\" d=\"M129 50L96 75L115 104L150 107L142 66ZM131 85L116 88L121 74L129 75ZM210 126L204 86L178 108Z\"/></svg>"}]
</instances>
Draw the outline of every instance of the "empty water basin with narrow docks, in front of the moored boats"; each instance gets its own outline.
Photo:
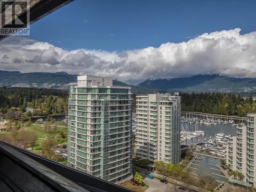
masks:
<instances>
[{"instance_id":1,"label":"empty water basin with narrow docks, in front of the moored boats","mask_svg":"<svg viewBox=\"0 0 256 192\"><path fill-rule=\"evenodd\" d=\"M189 166L187 171L195 175L211 175L216 181L223 182L227 178L217 166L217 164L220 164L220 161L220 159L214 157L197 155L196 160Z\"/></svg>"}]
</instances>

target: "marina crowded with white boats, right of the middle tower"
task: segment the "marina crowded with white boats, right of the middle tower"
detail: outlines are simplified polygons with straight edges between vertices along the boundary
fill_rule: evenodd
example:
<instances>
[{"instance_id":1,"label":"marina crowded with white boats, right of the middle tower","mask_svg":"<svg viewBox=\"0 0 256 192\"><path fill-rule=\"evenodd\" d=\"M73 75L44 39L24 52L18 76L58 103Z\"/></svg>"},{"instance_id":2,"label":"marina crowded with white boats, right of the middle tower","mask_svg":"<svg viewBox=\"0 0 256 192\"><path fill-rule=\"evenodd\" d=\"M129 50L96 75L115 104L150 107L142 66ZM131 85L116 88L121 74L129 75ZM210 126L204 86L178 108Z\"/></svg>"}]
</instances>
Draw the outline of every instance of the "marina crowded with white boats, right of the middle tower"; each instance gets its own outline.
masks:
<instances>
[{"instance_id":1,"label":"marina crowded with white boats, right of the middle tower","mask_svg":"<svg viewBox=\"0 0 256 192\"><path fill-rule=\"evenodd\" d=\"M182 117L180 141L193 147L196 152L224 158L226 144L231 135L236 135L237 126L232 120Z\"/></svg>"}]
</instances>

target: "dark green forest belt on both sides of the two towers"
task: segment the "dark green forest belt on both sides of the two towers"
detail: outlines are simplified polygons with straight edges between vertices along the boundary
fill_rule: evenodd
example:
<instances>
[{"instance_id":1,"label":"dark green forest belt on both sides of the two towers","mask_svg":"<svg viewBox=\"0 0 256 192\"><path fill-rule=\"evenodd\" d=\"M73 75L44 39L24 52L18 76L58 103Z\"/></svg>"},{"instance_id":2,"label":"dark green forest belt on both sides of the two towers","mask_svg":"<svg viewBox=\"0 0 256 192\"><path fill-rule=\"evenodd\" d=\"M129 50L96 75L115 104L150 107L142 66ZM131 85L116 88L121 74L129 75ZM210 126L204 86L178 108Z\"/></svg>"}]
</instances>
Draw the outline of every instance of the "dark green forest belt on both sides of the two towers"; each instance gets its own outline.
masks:
<instances>
[{"instance_id":1,"label":"dark green forest belt on both sides of the two towers","mask_svg":"<svg viewBox=\"0 0 256 192\"><path fill-rule=\"evenodd\" d=\"M238 116L256 113L256 102L251 96L246 99L224 93L180 93L180 96L182 111ZM21 116L26 111L27 115L59 114L66 112L67 106L68 92L64 90L0 88L0 114L8 117Z\"/></svg>"}]
</instances>

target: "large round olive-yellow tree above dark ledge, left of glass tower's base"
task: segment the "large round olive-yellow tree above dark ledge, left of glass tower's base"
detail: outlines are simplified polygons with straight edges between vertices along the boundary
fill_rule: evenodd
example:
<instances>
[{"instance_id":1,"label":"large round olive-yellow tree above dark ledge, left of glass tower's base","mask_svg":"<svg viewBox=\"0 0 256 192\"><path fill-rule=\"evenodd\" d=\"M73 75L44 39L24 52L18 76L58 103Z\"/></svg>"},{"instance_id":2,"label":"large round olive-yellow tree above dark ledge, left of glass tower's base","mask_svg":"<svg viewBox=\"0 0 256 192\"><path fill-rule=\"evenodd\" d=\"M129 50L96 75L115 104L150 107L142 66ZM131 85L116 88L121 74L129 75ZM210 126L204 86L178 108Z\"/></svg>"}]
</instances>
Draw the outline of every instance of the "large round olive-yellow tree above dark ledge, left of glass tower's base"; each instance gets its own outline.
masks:
<instances>
[{"instance_id":1,"label":"large round olive-yellow tree above dark ledge, left of glass tower's base","mask_svg":"<svg viewBox=\"0 0 256 192\"><path fill-rule=\"evenodd\" d=\"M52 159L54 157L54 149L57 146L57 141L51 137L47 137L41 143L42 154L47 158Z\"/></svg>"}]
</instances>

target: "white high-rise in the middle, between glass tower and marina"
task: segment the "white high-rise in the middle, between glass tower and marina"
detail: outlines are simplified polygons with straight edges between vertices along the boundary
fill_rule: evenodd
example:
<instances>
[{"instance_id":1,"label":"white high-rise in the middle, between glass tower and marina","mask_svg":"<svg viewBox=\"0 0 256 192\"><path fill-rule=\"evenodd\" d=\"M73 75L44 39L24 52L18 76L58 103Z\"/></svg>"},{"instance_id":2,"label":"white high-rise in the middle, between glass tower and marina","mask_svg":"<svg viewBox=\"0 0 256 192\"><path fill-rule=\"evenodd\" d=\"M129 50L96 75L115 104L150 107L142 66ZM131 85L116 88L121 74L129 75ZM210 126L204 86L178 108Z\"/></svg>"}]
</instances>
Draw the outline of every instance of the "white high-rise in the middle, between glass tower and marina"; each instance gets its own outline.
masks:
<instances>
[{"instance_id":1,"label":"white high-rise in the middle, between glass tower and marina","mask_svg":"<svg viewBox=\"0 0 256 192\"><path fill-rule=\"evenodd\" d=\"M180 111L178 93L136 96L136 156L180 162Z\"/></svg>"}]
</instances>

